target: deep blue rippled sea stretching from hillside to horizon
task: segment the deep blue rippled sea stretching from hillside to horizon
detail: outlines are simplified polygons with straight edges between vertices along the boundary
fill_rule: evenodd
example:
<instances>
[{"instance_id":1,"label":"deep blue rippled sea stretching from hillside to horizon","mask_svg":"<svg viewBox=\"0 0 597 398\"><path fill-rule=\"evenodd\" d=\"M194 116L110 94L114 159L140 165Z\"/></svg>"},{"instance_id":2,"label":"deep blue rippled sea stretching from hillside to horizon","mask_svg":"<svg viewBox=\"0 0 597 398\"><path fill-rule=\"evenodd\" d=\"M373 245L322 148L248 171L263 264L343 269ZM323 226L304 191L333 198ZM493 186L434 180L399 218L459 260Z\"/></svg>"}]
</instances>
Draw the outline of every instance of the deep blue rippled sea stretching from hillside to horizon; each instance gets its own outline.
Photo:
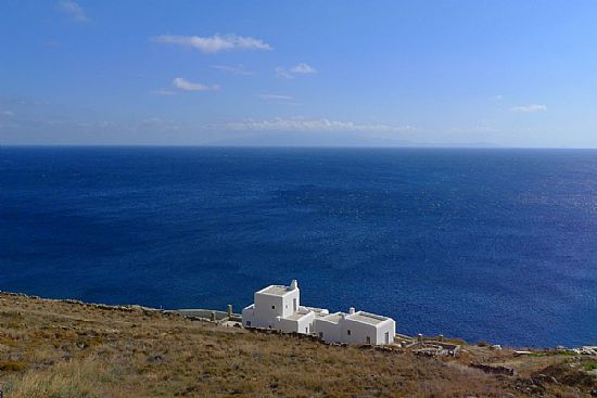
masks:
<instances>
[{"instance_id":1,"label":"deep blue rippled sea stretching from hillside to horizon","mask_svg":"<svg viewBox=\"0 0 597 398\"><path fill-rule=\"evenodd\" d=\"M597 151L0 147L0 290L597 343Z\"/></svg>"}]
</instances>

